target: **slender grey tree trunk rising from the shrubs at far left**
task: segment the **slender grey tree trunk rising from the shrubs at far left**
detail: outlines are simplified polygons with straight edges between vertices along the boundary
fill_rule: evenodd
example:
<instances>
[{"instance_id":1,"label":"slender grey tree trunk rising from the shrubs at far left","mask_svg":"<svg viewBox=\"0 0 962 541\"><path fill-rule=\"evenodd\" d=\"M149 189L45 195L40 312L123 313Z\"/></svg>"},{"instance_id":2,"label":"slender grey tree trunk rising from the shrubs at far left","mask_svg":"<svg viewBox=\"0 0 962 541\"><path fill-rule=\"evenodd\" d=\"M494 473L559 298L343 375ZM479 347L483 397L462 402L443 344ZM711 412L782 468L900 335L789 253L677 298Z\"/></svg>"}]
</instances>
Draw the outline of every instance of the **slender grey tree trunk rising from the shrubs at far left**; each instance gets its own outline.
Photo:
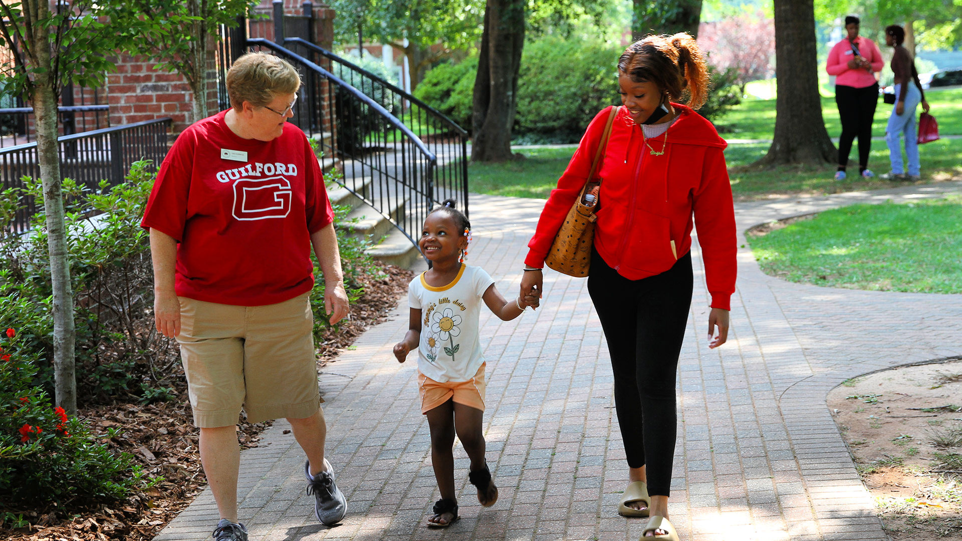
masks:
<instances>
[{"instance_id":1,"label":"slender grey tree trunk rising from the shrubs at far left","mask_svg":"<svg viewBox=\"0 0 962 541\"><path fill-rule=\"evenodd\" d=\"M38 2L38 11L48 10ZM39 20L47 15L40 13ZM77 413L77 379L74 365L73 288L70 285L70 260L67 257L66 228L63 223L63 185L57 143L57 84L50 60L50 31L43 25L34 29L33 46L39 65L47 71L34 80L34 115L37 126L37 158L43 186L43 212L46 216L47 249L50 253L50 279L53 285L54 317L54 400L70 415ZM114 152L119 149L114 149Z\"/></svg>"}]
</instances>

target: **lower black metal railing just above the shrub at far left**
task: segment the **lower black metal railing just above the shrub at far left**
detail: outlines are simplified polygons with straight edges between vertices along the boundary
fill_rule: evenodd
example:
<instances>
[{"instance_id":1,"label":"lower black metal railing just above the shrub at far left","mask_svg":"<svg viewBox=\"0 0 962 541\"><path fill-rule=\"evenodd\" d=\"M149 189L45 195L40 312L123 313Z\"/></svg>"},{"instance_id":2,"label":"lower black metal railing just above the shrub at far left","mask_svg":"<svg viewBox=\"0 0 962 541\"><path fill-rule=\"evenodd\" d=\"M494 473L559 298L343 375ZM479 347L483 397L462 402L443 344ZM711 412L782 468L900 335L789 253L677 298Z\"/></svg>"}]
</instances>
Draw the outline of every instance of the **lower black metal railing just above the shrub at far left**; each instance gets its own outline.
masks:
<instances>
[{"instance_id":1,"label":"lower black metal railing just above the shrub at far left","mask_svg":"<svg viewBox=\"0 0 962 541\"><path fill-rule=\"evenodd\" d=\"M111 185L123 182L130 166L138 160L153 160L160 166L167 154L170 117L145 120L112 128L61 136L58 138L61 176L71 178L91 190L103 179ZM0 192L23 188L24 176L38 178L40 167L37 143L30 142L0 149ZM32 197L22 201L11 227L24 233L37 211Z\"/></svg>"}]
</instances>

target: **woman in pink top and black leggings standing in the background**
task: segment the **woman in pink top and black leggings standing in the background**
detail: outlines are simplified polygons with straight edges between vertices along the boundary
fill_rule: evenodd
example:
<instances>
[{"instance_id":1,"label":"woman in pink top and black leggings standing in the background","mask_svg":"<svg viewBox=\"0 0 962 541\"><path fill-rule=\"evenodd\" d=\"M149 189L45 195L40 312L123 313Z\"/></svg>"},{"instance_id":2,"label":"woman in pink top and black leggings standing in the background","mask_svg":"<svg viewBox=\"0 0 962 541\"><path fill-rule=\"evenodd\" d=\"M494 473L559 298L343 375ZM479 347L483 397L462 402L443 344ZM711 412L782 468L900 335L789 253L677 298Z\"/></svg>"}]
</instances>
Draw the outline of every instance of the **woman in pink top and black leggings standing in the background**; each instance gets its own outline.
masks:
<instances>
[{"instance_id":1,"label":"woman in pink top and black leggings standing in the background","mask_svg":"<svg viewBox=\"0 0 962 541\"><path fill-rule=\"evenodd\" d=\"M858 172L866 178L875 173L869 168L872 149L872 120L878 103L878 81L874 72L881 71L882 53L872 39L858 35L858 17L847 16L848 36L828 53L825 71L835 76L835 103L842 120L839 141L839 167L835 180L845 180L851 142L858 136Z\"/></svg>"}]
</instances>

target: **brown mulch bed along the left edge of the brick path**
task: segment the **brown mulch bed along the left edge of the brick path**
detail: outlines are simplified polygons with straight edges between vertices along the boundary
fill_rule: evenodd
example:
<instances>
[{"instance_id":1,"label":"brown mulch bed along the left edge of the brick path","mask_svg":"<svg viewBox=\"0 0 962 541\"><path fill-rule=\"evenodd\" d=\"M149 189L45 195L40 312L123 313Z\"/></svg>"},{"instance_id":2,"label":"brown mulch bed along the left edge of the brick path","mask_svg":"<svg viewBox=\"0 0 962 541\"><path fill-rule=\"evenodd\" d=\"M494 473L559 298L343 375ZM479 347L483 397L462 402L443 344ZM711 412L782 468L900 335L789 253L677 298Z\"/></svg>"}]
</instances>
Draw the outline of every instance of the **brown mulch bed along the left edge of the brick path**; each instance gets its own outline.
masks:
<instances>
[{"instance_id":1,"label":"brown mulch bed along the left edge of the brick path","mask_svg":"<svg viewBox=\"0 0 962 541\"><path fill-rule=\"evenodd\" d=\"M379 274L384 277L379 277ZM333 362L342 349L349 347L371 325L383 322L407 293L413 273L392 265L381 266L361 276L365 294L351 305L351 320L331 329L316 344L318 366ZM173 354L177 354L176 348ZM179 365L176 365L179 367ZM125 502L114 502L89 509L56 508L41 512L24 510L29 528L2 528L0 539L9 541L149 541L168 522L190 505L206 485L197 449L197 429L192 425L187 399L187 383L173 378L177 399L153 404L118 403L82 407L79 416L89 420L93 433L105 434L108 428L123 432L102 443L116 451L133 454L134 461L151 476L164 480ZM263 432L271 423L238 425L241 449L258 447ZM7 526L7 525L5 525ZM213 529L213 525L212 525Z\"/></svg>"}]
</instances>

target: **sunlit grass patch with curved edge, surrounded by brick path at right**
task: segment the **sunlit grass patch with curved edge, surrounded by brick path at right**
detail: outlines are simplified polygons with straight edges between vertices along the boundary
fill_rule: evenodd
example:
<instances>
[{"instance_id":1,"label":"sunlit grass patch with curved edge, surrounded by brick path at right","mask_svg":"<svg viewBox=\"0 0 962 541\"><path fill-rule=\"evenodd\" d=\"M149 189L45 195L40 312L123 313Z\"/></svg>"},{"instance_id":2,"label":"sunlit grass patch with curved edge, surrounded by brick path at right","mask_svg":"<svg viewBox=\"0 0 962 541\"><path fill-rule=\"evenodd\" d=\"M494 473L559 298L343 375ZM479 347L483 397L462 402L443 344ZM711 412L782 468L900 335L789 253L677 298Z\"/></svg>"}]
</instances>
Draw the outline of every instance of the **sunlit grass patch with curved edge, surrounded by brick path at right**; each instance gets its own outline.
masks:
<instances>
[{"instance_id":1,"label":"sunlit grass patch with curved edge, surrounded by brick path at right","mask_svg":"<svg viewBox=\"0 0 962 541\"><path fill-rule=\"evenodd\" d=\"M851 205L748 239L765 272L820 286L962 293L962 197Z\"/></svg>"}]
</instances>

